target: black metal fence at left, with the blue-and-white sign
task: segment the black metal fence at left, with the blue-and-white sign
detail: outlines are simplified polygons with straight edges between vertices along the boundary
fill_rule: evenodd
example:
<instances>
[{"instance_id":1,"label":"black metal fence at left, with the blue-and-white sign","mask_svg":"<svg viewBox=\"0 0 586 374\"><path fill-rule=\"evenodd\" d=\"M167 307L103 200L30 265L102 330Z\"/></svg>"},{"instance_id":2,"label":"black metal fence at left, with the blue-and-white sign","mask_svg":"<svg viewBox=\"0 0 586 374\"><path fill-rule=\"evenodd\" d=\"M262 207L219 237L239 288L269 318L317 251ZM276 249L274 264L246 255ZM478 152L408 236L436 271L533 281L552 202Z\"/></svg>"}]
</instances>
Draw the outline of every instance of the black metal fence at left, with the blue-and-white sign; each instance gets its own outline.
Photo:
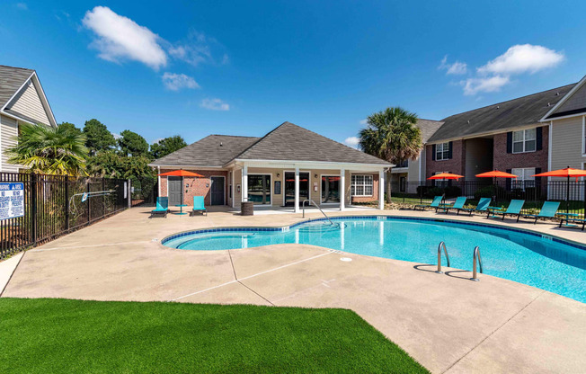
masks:
<instances>
[{"instance_id":1,"label":"black metal fence at left, with the blue-and-white sign","mask_svg":"<svg viewBox=\"0 0 586 374\"><path fill-rule=\"evenodd\" d=\"M129 206L123 179L0 173L0 182L24 185L24 215L0 220L0 259Z\"/></svg>"}]
</instances>

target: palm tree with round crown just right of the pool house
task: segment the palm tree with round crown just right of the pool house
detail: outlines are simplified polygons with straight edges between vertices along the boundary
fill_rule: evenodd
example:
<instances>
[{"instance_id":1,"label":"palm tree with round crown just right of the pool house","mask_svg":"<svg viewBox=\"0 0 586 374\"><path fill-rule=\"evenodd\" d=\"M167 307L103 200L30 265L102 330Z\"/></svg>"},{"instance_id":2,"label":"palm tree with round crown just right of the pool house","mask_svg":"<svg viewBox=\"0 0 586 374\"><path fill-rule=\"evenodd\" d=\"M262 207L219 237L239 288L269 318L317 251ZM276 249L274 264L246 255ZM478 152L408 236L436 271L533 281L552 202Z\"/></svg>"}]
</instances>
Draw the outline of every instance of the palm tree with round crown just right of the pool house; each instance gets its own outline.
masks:
<instances>
[{"instance_id":1,"label":"palm tree with round crown just right of the pool house","mask_svg":"<svg viewBox=\"0 0 586 374\"><path fill-rule=\"evenodd\" d=\"M386 108L367 118L360 129L360 148L372 156L399 164L415 160L422 150L422 131L416 126L417 114L403 108ZM391 183L386 178L386 201L391 201Z\"/></svg>"}]
</instances>

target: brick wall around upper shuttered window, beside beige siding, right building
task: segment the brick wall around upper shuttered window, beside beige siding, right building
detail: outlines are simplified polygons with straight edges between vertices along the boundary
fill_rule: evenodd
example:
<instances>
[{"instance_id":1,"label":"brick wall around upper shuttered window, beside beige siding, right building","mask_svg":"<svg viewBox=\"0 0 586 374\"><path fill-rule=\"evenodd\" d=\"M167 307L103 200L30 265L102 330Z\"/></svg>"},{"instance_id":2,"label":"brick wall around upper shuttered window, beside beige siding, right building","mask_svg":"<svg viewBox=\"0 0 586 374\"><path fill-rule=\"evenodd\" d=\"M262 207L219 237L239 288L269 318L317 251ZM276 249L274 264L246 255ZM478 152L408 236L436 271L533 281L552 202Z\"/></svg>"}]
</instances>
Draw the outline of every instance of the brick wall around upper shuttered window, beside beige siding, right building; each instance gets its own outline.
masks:
<instances>
[{"instance_id":1,"label":"brick wall around upper shuttered window, beside beige siding, right building","mask_svg":"<svg viewBox=\"0 0 586 374\"><path fill-rule=\"evenodd\" d=\"M507 133L494 136L493 168L506 172L517 167L540 167L542 172L547 171L547 154L549 144L549 127L541 129L543 138L541 150L526 153L507 153Z\"/></svg>"}]
</instances>

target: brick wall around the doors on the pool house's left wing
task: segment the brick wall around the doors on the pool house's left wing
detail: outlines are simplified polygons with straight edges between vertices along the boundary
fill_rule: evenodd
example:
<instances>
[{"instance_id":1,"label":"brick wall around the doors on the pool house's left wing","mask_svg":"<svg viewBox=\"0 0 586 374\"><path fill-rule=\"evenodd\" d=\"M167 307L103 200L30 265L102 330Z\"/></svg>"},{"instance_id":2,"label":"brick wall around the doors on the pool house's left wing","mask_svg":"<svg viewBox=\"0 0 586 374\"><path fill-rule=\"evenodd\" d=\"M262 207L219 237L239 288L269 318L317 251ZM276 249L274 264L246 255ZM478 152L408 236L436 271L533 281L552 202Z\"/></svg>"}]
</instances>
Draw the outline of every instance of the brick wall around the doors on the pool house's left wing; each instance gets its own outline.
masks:
<instances>
[{"instance_id":1,"label":"brick wall around the doors on the pool house's left wing","mask_svg":"<svg viewBox=\"0 0 586 374\"><path fill-rule=\"evenodd\" d=\"M161 173L171 172L175 169L161 169ZM193 196L205 196L206 206L211 205L211 194L209 190L211 188L210 177L211 176L223 176L224 177L224 200L227 205L228 201L228 176L226 171L213 171L213 170L188 170L186 171L203 175L203 177L183 177L183 203L187 205L193 205ZM185 184L189 184L188 188L185 188ZM161 177L161 196L167 196L167 177Z\"/></svg>"}]
</instances>

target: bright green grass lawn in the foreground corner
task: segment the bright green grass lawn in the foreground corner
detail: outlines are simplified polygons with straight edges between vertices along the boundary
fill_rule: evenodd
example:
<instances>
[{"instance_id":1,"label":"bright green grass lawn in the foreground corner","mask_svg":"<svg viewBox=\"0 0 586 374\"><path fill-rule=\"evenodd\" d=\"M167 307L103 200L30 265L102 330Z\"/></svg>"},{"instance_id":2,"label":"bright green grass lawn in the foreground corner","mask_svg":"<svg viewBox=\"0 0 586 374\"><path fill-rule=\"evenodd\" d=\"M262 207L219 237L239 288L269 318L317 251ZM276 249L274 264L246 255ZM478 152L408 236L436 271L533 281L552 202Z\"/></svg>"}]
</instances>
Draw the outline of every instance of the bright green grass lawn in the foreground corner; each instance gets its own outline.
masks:
<instances>
[{"instance_id":1,"label":"bright green grass lawn in the foreground corner","mask_svg":"<svg viewBox=\"0 0 586 374\"><path fill-rule=\"evenodd\" d=\"M0 298L0 372L427 372L346 309Z\"/></svg>"}]
</instances>

